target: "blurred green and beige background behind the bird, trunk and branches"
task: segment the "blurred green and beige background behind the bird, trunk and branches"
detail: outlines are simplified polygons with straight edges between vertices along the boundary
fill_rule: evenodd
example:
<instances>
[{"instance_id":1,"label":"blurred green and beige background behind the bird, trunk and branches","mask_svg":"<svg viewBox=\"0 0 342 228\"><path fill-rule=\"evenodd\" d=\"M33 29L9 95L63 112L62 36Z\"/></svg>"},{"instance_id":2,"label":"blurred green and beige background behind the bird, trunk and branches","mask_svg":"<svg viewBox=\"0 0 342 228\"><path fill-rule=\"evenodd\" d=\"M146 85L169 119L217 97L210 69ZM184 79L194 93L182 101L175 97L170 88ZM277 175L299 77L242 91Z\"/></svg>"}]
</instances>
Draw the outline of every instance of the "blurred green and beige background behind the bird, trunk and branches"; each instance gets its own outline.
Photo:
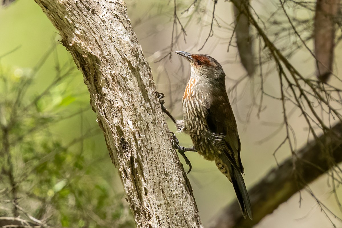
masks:
<instances>
[{"instance_id":1,"label":"blurred green and beige background behind the bird, trunk and branches","mask_svg":"<svg viewBox=\"0 0 342 228\"><path fill-rule=\"evenodd\" d=\"M165 105L178 119L182 118L181 98L190 71L187 61L174 51L208 54L222 64L238 124L247 189L291 156L289 143L277 150L287 133L282 103L274 99L280 96L275 64L255 38L255 65L260 60L262 67L256 67L253 77L248 76L233 35L231 2L218 1L215 8L210 0L126 3L157 90L166 95ZM292 3L286 5L287 13L312 50L315 2L304 3L305 7ZM279 4L252 2L260 22L265 22L264 32L304 77L314 80L315 59L293 32ZM58 41L58 32L34 1L17 0L3 6L0 22L0 122L9 126L1 133L0 217L28 213L63 227L135 227L117 170L89 104L83 76ZM250 32L253 38L255 31ZM337 42L334 76L329 84L340 89L341 53ZM265 92L262 99L261 88ZM291 146L297 150L313 137L300 110L290 102L286 105L293 132ZM336 122L330 118L325 121L331 125ZM170 130L175 131L173 123L168 122ZM316 130L320 134L320 129ZM192 145L187 135L177 136L182 146ZM208 227L215 215L235 200L235 192L213 162L192 152L187 157L193 166L188 177L203 225ZM302 190L301 196L292 196L255 227L342 227L334 216L342 216L338 203L341 189L332 188L328 175L309 187L315 197ZM324 203L323 211L316 199Z\"/></svg>"}]
</instances>

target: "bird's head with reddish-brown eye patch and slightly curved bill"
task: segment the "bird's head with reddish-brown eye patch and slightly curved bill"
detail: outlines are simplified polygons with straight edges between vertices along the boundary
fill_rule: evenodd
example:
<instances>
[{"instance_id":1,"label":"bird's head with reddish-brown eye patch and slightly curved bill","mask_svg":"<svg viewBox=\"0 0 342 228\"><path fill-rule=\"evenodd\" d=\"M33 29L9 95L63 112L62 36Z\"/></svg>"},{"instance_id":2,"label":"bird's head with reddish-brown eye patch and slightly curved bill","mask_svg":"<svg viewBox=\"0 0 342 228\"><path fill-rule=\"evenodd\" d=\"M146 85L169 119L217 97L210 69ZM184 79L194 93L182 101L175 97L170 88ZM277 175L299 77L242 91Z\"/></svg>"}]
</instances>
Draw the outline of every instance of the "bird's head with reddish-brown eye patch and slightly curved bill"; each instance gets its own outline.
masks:
<instances>
[{"instance_id":1,"label":"bird's head with reddish-brown eye patch and slightly curved bill","mask_svg":"<svg viewBox=\"0 0 342 228\"><path fill-rule=\"evenodd\" d=\"M183 51L175 51L175 53L190 62L192 75L195 74L197 77L205 77L209 80L224 80L225 73L216 59L208 55L190 54Z\"/></svg>"}]
</instances>

